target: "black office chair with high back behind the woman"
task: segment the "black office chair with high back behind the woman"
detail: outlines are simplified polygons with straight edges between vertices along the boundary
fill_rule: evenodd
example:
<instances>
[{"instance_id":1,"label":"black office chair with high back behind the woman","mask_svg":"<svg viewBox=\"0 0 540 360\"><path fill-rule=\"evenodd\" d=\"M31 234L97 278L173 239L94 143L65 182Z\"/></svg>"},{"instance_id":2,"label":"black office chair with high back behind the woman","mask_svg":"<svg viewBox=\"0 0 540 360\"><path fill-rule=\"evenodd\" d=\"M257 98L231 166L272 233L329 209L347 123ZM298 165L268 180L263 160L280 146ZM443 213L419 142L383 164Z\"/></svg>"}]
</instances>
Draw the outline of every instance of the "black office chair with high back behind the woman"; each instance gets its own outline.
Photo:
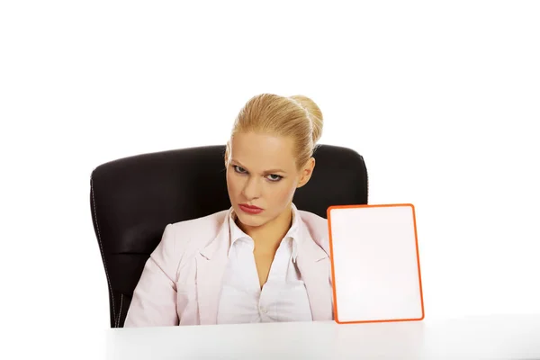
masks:
<instances>
[{"instance_id":1,"label":"black office chair with high back behind the woman","mask_svg":"<svg viewBox=\"0 0 540 360\"><path fill-rule=\"evenodd\" d=\"M109 284L111 327L121 328L135 286L168 223L229 209L224 146L184 148L121 158L97 166L90 204ZM364 158L321 145L308 184L293 202L326 219L331 205L366 204Z\"/></svg>"}]
</instances>

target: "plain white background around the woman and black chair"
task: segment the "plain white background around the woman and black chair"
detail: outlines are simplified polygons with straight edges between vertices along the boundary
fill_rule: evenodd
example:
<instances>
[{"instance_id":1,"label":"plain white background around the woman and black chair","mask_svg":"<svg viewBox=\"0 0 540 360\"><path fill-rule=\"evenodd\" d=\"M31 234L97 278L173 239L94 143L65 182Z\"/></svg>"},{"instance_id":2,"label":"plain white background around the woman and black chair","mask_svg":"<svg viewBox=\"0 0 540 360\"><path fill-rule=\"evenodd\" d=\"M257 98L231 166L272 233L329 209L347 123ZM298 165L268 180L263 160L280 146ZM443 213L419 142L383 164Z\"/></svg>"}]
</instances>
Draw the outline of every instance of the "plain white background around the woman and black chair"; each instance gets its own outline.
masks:
<instances>
[{"instance_id":1,"label":"plain white background around the woman and black chair","mask_svg":"<svg viewBox=\"0 0 540 360\"><path fill-rule=\"evenodd\" d=\"M320 142L365 157L370 203L415 204L427 320L540 312L539 18L525 1L3 2L4 340L37 354L55 347L41 329L74 329L67 346L109 326L95 166L223 144L263 92L319 103Z\"/></svg>"}]
</instances>

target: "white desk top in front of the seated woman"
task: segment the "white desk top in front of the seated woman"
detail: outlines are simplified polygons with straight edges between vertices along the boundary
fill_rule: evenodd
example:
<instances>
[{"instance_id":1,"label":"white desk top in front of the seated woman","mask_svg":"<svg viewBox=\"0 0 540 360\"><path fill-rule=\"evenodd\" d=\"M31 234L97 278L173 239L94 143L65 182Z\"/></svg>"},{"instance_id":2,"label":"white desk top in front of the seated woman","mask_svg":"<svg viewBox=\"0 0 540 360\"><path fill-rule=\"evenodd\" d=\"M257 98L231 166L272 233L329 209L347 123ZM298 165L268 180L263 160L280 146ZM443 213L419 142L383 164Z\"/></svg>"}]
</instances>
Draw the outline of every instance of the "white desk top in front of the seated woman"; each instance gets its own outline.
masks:
<instances>
[{"instance_id":1,"label":"white desk top in front of the seated woman","mask_svg":"<svg viewBox=\"0 0 540 360\"><path fill-rule=\"evenodd\" d=\"M540 359L540 315L110 329L110 359Z\"/></svg>"}]
</instances>

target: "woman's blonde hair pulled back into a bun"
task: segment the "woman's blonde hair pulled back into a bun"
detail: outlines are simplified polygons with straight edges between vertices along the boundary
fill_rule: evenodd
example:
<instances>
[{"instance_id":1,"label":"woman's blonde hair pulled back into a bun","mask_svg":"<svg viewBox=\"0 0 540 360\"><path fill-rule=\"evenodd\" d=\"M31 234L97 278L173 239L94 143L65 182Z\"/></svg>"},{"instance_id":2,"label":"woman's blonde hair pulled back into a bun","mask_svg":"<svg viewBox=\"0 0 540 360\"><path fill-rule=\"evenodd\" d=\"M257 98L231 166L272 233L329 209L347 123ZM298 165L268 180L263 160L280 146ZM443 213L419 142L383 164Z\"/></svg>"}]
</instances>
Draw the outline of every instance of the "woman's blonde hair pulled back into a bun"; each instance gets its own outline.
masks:
<instances>
[{"instance_id":1,"label":"woman's blonde hair pulled back into a bun","mask_svg":"<svg viewBox=\"0 0 540 360\"><path fill-rule=\"evenodd\" d=\"M313 155L322 135L322 112L319 106L304 95L280 96L258 94L240 110L230 138L240 132L268 133L291 137L294 156L300 168ZM225 164L229 162L230 143L227 142Z\"/></svg>"}]
</instances>

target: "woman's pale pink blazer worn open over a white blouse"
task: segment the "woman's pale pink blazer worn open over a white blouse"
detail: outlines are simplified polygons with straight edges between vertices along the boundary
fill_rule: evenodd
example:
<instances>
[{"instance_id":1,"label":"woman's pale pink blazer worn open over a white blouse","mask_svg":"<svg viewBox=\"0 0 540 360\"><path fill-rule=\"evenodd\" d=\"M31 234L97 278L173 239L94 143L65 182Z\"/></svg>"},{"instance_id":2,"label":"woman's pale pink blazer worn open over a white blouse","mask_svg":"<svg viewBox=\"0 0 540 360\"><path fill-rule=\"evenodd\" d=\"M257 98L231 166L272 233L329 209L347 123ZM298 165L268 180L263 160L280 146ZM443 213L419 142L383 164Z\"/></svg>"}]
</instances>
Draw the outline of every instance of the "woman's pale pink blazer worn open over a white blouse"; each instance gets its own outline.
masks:
<instances>
[{"instance_id":1,"label":"woman's pale pink blazer worn open over a white blouse","mask_svg":"<svg viewBox=\"0 0 540 360\"><path fill-rule=\"evenodd\" d=\"M216 324L229 254L229 211L168 224L150 255L124 327ZM296 263L313 320L333 320L326 219L300 211L302 241Z\"/></svg>"}]
</instances>

